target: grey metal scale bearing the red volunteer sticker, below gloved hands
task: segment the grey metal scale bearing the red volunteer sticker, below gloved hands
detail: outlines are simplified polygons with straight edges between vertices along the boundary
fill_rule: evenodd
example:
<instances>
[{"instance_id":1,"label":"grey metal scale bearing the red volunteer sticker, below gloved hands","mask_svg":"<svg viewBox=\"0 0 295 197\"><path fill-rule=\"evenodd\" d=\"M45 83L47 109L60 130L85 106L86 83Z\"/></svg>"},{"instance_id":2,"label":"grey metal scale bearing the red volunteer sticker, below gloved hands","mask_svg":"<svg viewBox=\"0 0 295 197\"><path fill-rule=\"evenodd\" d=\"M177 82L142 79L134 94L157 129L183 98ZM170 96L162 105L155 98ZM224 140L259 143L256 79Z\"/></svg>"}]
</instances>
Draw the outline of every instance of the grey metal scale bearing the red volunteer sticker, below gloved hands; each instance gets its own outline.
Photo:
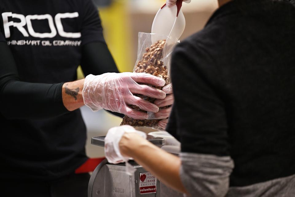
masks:
<instances>
[{"instance_id":1,"label":"grey metal scale bearing the red volunteer sticker, below gloved hands","mask_svg":"<svg viewBox=\"0 0 295 197\"><path fill-rule=\"evenodd\" d=\"M94 137L91 144L104 147L104 138ZM165 144L163 138L147 135L147 140L156 146ZM104 159L93 171L88 184L88 197L180 197L159 179L135 161L129 161L136 171L129 176L125 173L125 163L111 164Z\"/></svg>"}]
</instances>

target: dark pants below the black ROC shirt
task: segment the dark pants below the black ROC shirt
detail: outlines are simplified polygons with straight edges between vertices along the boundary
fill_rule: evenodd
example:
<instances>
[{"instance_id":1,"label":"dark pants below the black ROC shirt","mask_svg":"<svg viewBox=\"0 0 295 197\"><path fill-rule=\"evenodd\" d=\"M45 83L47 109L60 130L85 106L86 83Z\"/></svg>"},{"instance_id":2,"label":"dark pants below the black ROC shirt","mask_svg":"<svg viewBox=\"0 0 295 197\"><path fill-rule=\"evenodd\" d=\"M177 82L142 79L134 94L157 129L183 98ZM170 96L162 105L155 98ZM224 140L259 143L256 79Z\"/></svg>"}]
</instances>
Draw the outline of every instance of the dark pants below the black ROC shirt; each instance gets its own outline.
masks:
<instances>
[{"instance_id":1,"label":"dark pants below the black ROC shirt","mask_svg":"<svg viewBox=\"0 0 295 197\"><path fill-rule=\"evenodd\" d=\"M3 181L0 196L3 197L87 197L90 175L73 174L53 181Z\"/></svg>"}]
</instances>

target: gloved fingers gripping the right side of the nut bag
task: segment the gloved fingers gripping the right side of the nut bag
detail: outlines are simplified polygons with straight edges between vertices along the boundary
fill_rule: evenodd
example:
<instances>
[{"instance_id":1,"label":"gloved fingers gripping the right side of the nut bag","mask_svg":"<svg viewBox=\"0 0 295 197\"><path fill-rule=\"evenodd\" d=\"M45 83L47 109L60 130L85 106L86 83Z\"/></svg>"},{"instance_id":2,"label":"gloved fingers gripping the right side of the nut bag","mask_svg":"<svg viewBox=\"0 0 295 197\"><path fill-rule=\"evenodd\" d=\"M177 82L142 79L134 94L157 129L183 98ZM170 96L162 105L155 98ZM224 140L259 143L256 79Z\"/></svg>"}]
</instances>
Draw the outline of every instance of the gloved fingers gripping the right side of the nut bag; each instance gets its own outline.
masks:
<instances>
[{"instance_id":1,"label":"gloved fingers gripping the right side of the nut bag","mask_svg":"<svg viewBox=\"0 0 295 197\"><path fill-rule=\"evenodd\" d=\"M163 87L162 89L166 93L166 98L164 99L156 99L154 104L158 107L165 107L172 105L174 103L174 95L172 90L172 83L168 84L167 86ZM165 129L168 123L168 118L170 116L172 107L168 107L166 109L161 109L159 112L155 113L155 117L157 119L164 119L159 121L158 126L162 129Z\"/></svg>"}]
</instances>

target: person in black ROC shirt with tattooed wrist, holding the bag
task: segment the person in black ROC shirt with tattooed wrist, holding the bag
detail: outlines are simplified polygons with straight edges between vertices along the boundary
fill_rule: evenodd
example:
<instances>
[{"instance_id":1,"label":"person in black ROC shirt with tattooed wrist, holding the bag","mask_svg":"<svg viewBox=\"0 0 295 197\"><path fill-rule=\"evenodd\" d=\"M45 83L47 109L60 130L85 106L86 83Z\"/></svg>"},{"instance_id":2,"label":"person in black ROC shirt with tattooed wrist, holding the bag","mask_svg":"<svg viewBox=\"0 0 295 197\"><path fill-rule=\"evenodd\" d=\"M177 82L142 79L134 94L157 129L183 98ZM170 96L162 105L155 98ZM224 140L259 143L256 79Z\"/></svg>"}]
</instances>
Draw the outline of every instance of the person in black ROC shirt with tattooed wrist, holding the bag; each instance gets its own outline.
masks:
<instances>
[{"instance_id":1,"label":"person in black ROC shirt with tattooed wrist, holding the bag","mask_svg":"<svg viewBox=\"0 0 295 197\"><path fill-rule=\"evenodd\" d=\"M165 82L118 74L91 0L3 0L0 11L1 195L85 196L89 175L74 174L88 159L78 108L146 119L127 104L159 108L132 93L165 93L137 82ZM74 81L78 65L87 77Z\"/></svg>"}]
</instances>

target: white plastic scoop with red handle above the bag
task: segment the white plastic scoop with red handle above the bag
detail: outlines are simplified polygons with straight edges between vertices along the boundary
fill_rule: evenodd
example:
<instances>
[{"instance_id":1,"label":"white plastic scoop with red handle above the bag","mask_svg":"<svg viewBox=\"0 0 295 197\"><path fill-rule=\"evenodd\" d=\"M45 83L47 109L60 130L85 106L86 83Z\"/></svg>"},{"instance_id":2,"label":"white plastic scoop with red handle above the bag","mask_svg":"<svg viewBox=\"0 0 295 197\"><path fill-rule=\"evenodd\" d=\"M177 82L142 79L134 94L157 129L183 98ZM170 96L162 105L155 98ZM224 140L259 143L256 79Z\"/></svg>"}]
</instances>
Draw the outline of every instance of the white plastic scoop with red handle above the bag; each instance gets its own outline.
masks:
<instances>
[{"instance_id":1,"label":"white plastic scoop with red handle above the bag","mask_svg":"<svg viewBox=\"0 0 295 197\"><path fill-rule=\"evenodd\" d=\"M183 0L177 0L176 5L168 8L165 4L157 12L151 26L152 43L163 39L163 36L179 39L185 28L185 18L181 10Z\"/></svg>"}]
</instances>

